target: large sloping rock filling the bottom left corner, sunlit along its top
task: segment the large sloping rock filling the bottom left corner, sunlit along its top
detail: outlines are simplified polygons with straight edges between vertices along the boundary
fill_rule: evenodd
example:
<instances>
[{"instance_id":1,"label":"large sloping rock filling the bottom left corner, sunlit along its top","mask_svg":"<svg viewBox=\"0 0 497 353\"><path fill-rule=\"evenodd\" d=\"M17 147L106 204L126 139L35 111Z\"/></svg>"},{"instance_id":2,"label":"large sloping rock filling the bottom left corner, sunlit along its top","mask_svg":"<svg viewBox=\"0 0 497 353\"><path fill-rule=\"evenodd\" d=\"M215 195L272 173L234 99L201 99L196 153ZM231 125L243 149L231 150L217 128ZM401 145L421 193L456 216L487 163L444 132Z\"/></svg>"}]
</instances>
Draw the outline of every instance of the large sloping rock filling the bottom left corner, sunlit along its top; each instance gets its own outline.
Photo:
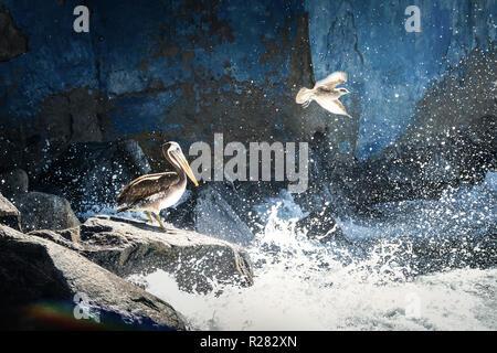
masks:
<instances>
[{"instance_id":1,"label":"large sloping rock filling the bottom left corner, sunlit along its top","mask_svg":"<svg viewBox=\"0 0 497 353\"><path fill-rule=\"evenodd\" d=\"M65 247L2 225L0 282L1 329L186 329L162 300ZM75 319L84 313L93 320Z\"/></svg>"}]
</instances>

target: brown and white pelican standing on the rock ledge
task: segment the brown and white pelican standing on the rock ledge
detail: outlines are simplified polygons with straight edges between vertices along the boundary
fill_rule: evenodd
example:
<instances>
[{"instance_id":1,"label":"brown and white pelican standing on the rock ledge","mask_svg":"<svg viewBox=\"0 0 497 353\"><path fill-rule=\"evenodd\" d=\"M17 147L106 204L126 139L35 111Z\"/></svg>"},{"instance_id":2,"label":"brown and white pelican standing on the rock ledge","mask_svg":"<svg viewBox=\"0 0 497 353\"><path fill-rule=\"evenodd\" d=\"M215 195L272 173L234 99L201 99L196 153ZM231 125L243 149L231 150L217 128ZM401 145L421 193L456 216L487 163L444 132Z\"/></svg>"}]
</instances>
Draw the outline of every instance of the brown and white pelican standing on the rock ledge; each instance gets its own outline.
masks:
<instances>
[{"instance_id":1,"label":"brown and white pelican standing on the rock ledge","mask_svg":"<svg viewBox=\"0 0 497 353\"><path fill-rule=\"evenodd\" d=\"M154 223L150 213L154 213L157 222L165 228L159 217L159 212L176 204L187 188L187 175L199 185L195 175L177 142L162 145L162 154L175 168L173 172L141 175L123 188L117 196L117 204L123 205L117 212L127 210L145 211L150 223Z\"/></svg>"}]
</instances>

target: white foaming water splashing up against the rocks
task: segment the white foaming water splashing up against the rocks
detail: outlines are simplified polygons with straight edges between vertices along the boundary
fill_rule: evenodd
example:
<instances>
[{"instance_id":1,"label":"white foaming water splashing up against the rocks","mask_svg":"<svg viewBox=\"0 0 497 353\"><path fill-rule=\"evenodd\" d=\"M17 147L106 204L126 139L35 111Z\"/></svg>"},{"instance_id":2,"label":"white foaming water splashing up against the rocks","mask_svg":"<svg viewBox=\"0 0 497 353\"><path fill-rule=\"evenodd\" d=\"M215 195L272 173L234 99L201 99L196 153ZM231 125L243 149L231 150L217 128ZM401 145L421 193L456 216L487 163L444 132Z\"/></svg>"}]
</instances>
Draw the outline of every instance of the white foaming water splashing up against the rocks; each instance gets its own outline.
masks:
<instances>
[{"instance_id":1,"label":"white foaming water splashing up against the rocks","mask_svg":"<svg viewBox=\"0 0 497 353\"><path fill-rule=\"evenodd\" d=\"M405 240L395 240L395 235L425 238L437 232L455 236L469 223L476 233L488 231L496 224L496 180L489 173L483 185L447 193L438 202L385 205L399 211L393 221L340 221L350 238L377 238L362 255L306 238L295 231L299 210L297 217L282 217L293 210L288 200L271 200L272 206L261 208L266 226L247 248L254 263L252 287L226 286L219 296L215 290L186 293L159 270L146 277L147 290L199 330L497 330L495 258L486 269L448 266L410 276L413 269L405 259L416 256ZM456 221L462 208L479 217Z\"/></svg>"}]
</instances>

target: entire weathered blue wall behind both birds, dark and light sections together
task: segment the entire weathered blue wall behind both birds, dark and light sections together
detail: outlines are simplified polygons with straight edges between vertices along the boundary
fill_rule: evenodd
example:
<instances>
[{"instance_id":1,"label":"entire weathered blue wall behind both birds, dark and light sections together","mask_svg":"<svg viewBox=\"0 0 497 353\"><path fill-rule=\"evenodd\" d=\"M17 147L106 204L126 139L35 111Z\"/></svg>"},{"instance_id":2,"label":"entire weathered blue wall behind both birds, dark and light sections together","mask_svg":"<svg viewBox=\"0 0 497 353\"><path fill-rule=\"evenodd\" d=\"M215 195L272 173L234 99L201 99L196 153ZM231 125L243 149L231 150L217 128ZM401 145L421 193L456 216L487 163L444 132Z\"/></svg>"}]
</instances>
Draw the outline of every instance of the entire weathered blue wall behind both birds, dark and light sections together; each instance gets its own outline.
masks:
<instances>
[{"instance_id":1,"label":"entire weathered blue wall behind both birds, dark and light sections together","mask_svg":"<svg viewBox=\"0 0 497 353\"><path fill-rule=\"evenodd\" d=\"M420 33L404 28L408 0L85 3L89 33L73 31L77 1L0 0L11 29L0 43L0 168L33 176L70 143L124 137L157 170L165 140L188 149L214 132L244 143L324 136L327 159L349 163L408 128L411 140L413 127L442 131L497 110L495 0L416 1ZM480 74L470 83L468 57ZM295 104L298 88L337 69L349 74L353 119ZM444 85L465 87L457 97L470 87L477 101L458 109Z\"/></svg>"}]
</instances>

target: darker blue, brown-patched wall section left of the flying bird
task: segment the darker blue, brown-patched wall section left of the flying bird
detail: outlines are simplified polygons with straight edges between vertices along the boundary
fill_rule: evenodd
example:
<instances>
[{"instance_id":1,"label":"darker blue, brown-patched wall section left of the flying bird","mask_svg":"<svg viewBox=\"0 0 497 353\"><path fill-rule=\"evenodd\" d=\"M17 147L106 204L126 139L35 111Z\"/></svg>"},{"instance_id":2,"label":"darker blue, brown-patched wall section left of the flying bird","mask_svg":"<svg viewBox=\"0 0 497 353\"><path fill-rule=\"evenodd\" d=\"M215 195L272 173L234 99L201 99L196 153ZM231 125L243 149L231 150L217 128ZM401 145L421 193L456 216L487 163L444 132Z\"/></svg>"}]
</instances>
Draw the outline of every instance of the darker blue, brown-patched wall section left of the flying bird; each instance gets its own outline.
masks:
<instances>
[{"instance_id":1,"label":"darker blue, brown-patched wall section left of the flying bird","mask_svg":"<svg viewBox=\"0 0 497 353\"><path fill-rule=\"evenodd\" d=\"M77 1L1 4L30 43L0 65L9 163L39 170L41 149L121 136L154 164L165 140L302 133L294 90L313 77L299 1L91 0L89 33L73 31Z\"/></svg>"}]
</instances>

